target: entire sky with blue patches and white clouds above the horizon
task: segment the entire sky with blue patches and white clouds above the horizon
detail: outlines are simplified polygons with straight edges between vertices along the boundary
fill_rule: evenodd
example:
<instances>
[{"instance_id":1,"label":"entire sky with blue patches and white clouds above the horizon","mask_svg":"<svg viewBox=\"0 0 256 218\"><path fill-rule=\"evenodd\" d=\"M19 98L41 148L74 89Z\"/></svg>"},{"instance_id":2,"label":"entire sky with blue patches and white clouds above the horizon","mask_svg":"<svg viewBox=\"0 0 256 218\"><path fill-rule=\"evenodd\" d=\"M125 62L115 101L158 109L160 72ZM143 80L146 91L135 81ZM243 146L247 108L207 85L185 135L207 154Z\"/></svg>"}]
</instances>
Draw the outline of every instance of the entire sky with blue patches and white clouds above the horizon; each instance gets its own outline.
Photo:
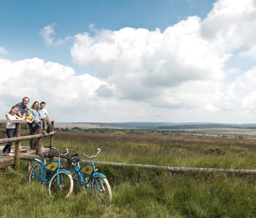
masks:
<instances>
[{"instance_id":1,"label":"entire sky with blue patches and white clouds above the horizon","mask_svg":"<svg viewBox=\"0 0 256 218\"><path fill-rule=\"evenodd\" d=\"M256 0L0 1L0 114L256 123Z\"/></svg>"}]
</instances>

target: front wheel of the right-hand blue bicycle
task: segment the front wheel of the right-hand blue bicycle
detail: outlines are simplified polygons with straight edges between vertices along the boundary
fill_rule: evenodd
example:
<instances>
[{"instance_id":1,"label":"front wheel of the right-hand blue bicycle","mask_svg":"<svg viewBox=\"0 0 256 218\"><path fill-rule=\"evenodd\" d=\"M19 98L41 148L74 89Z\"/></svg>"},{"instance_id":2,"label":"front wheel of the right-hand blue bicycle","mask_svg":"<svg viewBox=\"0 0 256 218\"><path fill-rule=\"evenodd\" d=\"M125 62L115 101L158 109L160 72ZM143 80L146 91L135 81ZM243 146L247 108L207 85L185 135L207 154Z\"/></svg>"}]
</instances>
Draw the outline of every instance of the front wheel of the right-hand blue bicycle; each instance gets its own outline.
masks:
<instances>
[{"instance_id":1,"label":"front wheel of the right-hand blue bicycle","mask_svg":"<svg viewBox=\"0 0 256 218\"><path fill-rule=\"evenodd\" d=\"M112 193L107 178L102 178L99 175L92 178L92 190L102 205L109 205L111 203Z\"/></svg>"}]
</instances>

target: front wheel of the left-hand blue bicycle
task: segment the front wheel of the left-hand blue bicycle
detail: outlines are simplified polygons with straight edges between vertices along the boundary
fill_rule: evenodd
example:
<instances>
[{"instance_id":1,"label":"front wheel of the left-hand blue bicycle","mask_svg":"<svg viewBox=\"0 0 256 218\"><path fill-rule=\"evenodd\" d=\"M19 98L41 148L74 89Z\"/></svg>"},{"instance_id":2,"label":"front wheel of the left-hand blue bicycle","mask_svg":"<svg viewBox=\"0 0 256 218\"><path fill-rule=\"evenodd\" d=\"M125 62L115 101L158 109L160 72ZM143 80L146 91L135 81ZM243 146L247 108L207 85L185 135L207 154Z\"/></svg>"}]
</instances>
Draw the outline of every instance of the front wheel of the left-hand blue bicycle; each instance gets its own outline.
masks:
<instances>
[{"instance_id":1,"label":"front wheel of the left-hand blue bicycle","mask_svg":"<svg viewBox=\"0 0 256 218\"><path fill-rule=\"evenodd\" d=\"M59 177L59 184L58 184ZM65 171L55 173L49 183L50 195L62 195L69 197L73 190L73 179L71 175Z\"/></svg>"}]
</instances>

